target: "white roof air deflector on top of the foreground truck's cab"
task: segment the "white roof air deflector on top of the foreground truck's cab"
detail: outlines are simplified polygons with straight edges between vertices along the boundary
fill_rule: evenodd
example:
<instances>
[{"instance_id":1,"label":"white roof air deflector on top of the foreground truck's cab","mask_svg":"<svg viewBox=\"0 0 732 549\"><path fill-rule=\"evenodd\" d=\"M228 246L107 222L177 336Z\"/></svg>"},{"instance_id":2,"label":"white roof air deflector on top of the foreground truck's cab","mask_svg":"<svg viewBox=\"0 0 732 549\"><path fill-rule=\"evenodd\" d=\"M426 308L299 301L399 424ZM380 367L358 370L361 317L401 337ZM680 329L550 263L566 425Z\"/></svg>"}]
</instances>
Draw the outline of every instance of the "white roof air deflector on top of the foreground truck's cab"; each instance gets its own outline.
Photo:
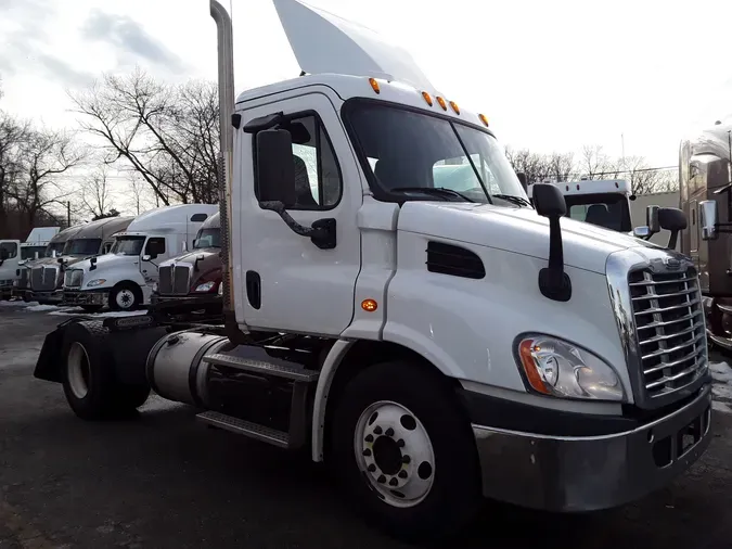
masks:
<instances>
[{"instance_id":1,"label":"white roof air deflector on top of the foreground truck's cab","mask_svg":"<svg viewBox=\"0 0 732 549\"><path fill-rule=\"evenodd\" d=\"M274 0L274 8L295 58L306 73L371 76L434 91L434 86L404 49L370 28L299 0Z\"/></svg>"}]
</instances>

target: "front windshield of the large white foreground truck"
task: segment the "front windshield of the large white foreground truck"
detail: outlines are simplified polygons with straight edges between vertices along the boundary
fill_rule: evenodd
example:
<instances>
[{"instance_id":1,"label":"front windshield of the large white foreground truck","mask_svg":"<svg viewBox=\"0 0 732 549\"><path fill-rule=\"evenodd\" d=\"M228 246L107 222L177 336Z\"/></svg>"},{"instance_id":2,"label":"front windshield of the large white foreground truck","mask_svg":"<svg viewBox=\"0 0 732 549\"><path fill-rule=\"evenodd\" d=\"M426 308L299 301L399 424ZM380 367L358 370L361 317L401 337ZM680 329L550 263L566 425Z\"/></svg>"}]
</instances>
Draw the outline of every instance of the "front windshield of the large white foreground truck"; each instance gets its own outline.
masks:
<instances>
[{"instance_id":1,"label":"front windshield of the large white foreground truck","mask_svg":"<svg viewBox=\"0 0 732 549\"><path fill-rule=\"evenodd\" d=\"M498 141L486 131L378 103L355 103L348 119L378 200L530 207Z\"/></svg>"}]
</instances>

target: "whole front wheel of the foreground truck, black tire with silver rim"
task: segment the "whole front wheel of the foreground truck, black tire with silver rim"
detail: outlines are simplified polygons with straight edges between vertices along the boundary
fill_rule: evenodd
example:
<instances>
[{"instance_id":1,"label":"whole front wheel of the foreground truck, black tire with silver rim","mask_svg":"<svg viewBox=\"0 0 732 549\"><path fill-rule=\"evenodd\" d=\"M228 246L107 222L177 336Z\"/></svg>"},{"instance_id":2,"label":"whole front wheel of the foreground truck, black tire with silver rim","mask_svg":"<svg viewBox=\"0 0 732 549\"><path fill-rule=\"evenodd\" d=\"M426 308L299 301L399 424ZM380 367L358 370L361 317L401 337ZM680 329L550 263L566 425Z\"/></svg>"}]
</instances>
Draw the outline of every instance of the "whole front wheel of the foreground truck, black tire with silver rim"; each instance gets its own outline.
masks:
<instances>
[{"instance_id":1,"label":"whole front wheel of the foreground truck, black tire with silver rim","mask_svg":"<svg viewBox=\"0 0 732 549\"><path fill-rule=\"evenodd\" d=\"M372 366L348 383L334 413L332 463L376 524L419 541L455 534L473 519L475 442L438 374L411 362Z\"/></svg>"}]
</instances>

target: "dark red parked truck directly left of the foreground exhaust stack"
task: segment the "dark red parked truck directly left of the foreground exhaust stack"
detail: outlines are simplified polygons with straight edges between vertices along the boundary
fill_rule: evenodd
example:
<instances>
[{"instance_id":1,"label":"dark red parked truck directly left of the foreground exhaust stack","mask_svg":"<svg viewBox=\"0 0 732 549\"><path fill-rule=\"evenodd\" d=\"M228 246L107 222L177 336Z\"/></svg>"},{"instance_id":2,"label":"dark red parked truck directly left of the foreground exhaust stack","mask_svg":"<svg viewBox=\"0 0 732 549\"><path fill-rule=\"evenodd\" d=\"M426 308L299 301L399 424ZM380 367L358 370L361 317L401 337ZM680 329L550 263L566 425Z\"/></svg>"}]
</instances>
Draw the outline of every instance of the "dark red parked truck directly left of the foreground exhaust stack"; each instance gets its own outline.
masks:
<instances>
[{"instance_id":1,"label":"dark red parked truck directly left of the foreground exhaust stack","mask_svg":"<svg viewBox=\"0 0 732 549\"><path fill-rule=\"evenodd\" d=\"M163 261L153 286L151 310L171 317L220 321L223 293L221 271L221 224L218 212L204 221L193 248Z\"/></svg>"}]
</instances>

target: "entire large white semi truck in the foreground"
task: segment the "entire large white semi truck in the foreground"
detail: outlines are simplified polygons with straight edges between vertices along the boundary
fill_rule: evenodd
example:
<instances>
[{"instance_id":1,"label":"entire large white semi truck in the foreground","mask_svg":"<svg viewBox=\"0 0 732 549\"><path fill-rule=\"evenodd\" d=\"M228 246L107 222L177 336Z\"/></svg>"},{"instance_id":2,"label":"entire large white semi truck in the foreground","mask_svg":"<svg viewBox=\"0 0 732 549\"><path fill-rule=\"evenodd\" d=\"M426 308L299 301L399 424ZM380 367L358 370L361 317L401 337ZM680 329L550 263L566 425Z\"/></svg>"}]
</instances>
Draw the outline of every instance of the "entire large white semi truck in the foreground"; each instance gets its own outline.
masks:
<instances>
[{"instance_id":1,"label":"entire large white semi truck in the foreground","mask_svg":"<svg viewBox=\"0 0 732 549\"><path fill-rule=\"evenodd\" d=\"M224 324L69 320L35 375L84 419L152 387L208 425L307 448L401 538L459 532L481 496L589 511L685 471L711 406L689 259L564 218L553 186L535 186L535 209L488 119L403 50L274 3L305 76L234 101L211 0ZM471 184L434 187L455 158Z\"/></svg>"}]
</instances>

